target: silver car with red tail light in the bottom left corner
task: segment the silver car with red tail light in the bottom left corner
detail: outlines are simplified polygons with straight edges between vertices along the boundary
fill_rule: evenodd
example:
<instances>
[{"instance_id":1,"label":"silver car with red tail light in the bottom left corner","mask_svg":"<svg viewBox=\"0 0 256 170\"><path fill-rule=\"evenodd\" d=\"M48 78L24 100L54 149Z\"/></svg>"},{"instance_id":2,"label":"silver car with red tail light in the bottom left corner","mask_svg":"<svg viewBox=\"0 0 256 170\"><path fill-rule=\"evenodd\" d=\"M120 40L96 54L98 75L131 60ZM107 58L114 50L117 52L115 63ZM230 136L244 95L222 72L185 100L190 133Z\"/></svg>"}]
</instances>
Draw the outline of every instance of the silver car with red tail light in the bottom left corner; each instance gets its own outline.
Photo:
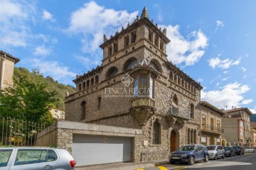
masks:
<instances>
[{"instance_id":1,"label":"silver car with red tail light in the bottom left corner","mask_svg":"<svg viewBox=\"0 0 256 170\"><path fill-rule=\"evenodd\" d=\"M2 147L0 170L74 170L75 161L66 149Z\"/></svg>"}]
</instances>

